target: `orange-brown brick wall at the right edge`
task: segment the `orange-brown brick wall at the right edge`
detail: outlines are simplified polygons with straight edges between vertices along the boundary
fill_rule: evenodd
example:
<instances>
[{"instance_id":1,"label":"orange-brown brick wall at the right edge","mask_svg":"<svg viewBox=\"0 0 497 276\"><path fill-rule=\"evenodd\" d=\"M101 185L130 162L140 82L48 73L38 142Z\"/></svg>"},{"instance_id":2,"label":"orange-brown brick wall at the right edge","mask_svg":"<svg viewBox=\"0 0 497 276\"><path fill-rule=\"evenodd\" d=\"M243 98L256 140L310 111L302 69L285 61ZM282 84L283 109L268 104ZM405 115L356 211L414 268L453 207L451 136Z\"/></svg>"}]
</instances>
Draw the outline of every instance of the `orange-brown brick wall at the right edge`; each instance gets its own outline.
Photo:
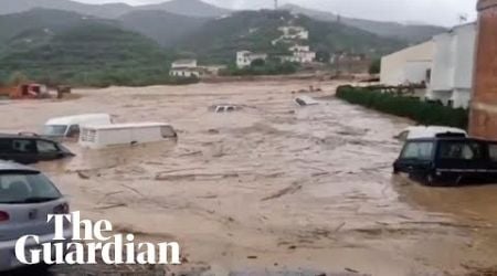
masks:
<instances>
[{"instance_id":1,"label":"orange-brown brick wall at the right edge","mask_svg":"<svg viewBox=\"0 0 497 276\"><path fill-rule=\"evenodd\" d=\"M497 140L497 0L479 0L478 12L469 132Z\"/></svg>"}]
</instances>

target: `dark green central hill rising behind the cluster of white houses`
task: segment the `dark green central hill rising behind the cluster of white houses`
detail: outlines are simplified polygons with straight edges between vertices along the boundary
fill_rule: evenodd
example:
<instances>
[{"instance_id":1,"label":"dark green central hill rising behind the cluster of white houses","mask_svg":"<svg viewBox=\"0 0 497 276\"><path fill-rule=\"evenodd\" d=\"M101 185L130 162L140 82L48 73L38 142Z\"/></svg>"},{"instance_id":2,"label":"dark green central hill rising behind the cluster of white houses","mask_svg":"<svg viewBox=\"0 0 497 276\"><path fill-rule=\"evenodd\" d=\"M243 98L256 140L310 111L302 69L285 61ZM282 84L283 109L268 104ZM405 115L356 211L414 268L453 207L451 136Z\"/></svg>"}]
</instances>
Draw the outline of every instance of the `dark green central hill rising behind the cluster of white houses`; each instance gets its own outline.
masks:
<instances>
[{"instance_id":1,"label":"dark green central hill rising behind the cluster of white houses","mask_svg":"<svg viewBox=\"0 0 497 276\"><path fill-rule=\"evenodd\" d=\"M396 40L380 38L357 28L324 22L307 17L295 19L287 11L243 11L231 17L207 22L199 31L183 40L179 50L197 53L201 60L233 62L236 51L285 52L285 46L275 47L272 41L281 36L278 26L293 22L305 26L310 46L326 52L347 51L380 55L404 44Z\"/></svg>"}]
</instances>

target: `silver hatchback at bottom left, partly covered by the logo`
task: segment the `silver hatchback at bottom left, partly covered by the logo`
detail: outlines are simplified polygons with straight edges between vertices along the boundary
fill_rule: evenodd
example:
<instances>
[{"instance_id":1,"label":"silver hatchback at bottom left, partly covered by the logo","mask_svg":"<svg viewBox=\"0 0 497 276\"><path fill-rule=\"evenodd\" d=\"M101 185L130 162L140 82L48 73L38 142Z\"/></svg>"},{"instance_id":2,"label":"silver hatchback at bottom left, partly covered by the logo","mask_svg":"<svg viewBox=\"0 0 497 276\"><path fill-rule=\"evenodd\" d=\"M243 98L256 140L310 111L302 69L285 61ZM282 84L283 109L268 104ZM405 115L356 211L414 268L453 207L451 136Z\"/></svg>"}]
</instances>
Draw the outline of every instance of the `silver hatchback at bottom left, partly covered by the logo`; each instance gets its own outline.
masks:
<instances>
[{"instance_id":1,"label":"silver hatchback at bottom left, partly covered by the logo","mask_svg":"<svg viewBox=\"0 0 497 276\"><path fill-rule=\"evenodd\" d=\"M43 173L0 161L0 272L23 266L14 254L15 242L21 236L38 235L40 244L52 242L54 223L46 223L47 214L68 212L67 200ZM72 229L65 229L67 242L72 237ZM27 246L33 248L36 245Z\"/></svg>"}]
</instances>

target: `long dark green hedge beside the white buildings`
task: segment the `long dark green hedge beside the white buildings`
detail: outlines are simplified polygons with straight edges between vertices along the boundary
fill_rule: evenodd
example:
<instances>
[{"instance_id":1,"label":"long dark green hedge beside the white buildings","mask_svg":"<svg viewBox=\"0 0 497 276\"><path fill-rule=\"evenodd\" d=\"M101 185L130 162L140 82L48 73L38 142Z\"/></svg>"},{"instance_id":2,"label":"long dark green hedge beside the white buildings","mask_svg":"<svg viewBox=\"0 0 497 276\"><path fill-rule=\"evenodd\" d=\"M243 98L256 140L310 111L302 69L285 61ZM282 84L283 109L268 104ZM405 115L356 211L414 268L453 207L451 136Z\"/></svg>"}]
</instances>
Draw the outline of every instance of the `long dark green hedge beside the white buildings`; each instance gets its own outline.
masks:
<instances>
[{"instance_id":1,"label":"long dark green hedge beside the white buildings","mask_svg":"<svg viewBox=\"0 0 497 276\"><path fill-rule=\"evenodd\" d=\"M374 88L340 86L337 97L351 104L362 105L379 112L406 117L423 125L467 128L468 112L435 103L422 102L416 97L404 97L380 93Z\"/></svg>"}]
</instances>

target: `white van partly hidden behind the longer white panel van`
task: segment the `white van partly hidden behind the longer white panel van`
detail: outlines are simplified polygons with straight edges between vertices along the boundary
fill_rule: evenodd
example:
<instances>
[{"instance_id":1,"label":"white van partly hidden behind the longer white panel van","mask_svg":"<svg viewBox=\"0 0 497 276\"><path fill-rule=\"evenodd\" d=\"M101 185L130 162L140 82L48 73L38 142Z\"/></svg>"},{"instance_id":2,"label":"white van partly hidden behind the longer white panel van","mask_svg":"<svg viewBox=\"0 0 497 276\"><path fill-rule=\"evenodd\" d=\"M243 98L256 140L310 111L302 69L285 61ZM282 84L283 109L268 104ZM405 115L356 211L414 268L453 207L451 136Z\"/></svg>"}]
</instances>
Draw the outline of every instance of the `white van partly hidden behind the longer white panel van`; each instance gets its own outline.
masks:
<instances>
[{"instance_id":1,"label":"white van partly hidden behind the longer white panel van","mask_svg":"<svg viewBox=\"0 0 497 276\"><path fill-rule=\"evenodd\" d=\"M110 125L112 117L108 114L82 114L67 117L57 117L47 120L43 128L43 136L50 138L77 138L80 128L84 125Z\"/></svg>"}]
</instances>

